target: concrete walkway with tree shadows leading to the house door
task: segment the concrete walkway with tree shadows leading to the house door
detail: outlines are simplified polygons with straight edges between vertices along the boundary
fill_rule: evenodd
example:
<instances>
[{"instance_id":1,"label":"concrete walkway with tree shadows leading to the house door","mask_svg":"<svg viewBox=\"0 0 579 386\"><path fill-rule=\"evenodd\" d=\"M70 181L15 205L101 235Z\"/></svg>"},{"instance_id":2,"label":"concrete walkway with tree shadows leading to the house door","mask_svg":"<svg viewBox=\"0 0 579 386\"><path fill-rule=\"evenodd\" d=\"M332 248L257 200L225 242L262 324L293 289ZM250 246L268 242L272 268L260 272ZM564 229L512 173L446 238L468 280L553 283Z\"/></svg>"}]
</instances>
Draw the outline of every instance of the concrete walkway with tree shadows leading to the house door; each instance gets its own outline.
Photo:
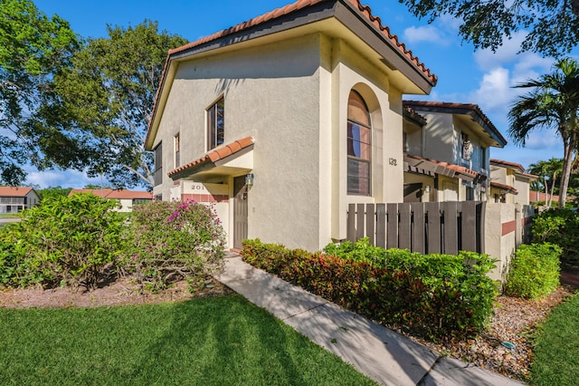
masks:
<instances>
[{"instance_id":1,"label":"concrete walkway with tree shadows leading to the house door","mask_svg":"<svg viewBox=\"0 0 579 386\"><path fill-rule=\"evenodd\" d=\"M441 357L422 344L244 263L239 255L227 256L218 279L380 384L522 384Z\"/></svg>"}]
</instances>

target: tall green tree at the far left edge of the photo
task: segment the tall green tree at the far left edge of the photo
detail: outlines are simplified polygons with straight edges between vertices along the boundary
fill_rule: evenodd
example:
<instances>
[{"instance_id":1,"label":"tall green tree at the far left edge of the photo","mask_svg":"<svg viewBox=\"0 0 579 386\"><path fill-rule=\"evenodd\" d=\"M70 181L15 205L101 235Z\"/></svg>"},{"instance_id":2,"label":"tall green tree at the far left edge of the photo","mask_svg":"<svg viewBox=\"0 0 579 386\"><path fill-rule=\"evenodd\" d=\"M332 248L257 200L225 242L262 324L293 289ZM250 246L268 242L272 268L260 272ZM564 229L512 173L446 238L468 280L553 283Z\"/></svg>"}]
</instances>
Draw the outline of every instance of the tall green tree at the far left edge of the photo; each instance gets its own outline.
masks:
<instances>
[{"instance_id":1,"label":"tall green tree at the far left edge of the photo","mask_svg":"<svg viewBox=\"0 0 579 386\"><path fill-rule=\"evenodd\" d=\"M53 77L77 47L60 17L47 17L29 0L0 1L0 183L22 183L28 162L39 169L81 162L73 136L33 120L41 104L54 101Z\"/></svg>"}]
</instances>

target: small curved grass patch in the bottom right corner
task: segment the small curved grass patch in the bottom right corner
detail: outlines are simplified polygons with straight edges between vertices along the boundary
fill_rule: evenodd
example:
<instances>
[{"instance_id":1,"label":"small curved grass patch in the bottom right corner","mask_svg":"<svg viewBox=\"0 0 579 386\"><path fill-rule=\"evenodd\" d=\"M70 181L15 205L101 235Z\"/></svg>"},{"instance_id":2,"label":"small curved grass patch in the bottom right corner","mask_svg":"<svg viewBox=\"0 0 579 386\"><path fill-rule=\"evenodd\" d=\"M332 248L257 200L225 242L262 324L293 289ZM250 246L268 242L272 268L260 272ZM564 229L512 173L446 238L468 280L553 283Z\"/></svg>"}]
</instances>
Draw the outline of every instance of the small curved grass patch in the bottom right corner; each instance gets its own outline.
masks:
<instances>
[{"instance_id":1,"label":"small curved grass patch in the bottom right corner","mask_svg":"<svg viewBox=\"0 0 579 386\"><path fill-rule=\"evenodd\" d=\"M531 380L536 385L576 385L579 380L579 295L557 306L536 339Z\"/></svg>"}]
</instances>

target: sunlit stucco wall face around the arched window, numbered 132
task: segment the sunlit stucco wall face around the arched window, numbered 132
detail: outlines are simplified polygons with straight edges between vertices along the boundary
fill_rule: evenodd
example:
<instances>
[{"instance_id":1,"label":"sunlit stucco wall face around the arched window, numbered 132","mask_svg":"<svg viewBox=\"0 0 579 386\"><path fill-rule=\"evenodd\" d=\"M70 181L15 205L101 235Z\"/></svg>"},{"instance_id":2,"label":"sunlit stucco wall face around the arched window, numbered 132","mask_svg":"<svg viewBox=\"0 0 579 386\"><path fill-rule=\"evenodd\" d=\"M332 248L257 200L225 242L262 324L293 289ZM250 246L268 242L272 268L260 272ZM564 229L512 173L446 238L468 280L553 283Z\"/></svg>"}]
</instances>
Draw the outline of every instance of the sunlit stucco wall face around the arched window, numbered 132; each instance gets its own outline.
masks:
<instances>
[{"instance_id":1,"label":"sunlit stucco wall face around the arched window, numbered 132","mask_svg":"<svg viewBox=\"0 0 579 386\"><path fill-rule=\"evenodd\" d=\"M331 238L346 238L349 203L403 202L402 94L384 73L342 41L331 41L333 95L333 200ZM327 51L325 51L327 53ZM347 100L354 89L365 99L372 119L372 194L348 195L346 187ZM335 220L337 218L337 221Z\"/></svg>"}]
</instances>

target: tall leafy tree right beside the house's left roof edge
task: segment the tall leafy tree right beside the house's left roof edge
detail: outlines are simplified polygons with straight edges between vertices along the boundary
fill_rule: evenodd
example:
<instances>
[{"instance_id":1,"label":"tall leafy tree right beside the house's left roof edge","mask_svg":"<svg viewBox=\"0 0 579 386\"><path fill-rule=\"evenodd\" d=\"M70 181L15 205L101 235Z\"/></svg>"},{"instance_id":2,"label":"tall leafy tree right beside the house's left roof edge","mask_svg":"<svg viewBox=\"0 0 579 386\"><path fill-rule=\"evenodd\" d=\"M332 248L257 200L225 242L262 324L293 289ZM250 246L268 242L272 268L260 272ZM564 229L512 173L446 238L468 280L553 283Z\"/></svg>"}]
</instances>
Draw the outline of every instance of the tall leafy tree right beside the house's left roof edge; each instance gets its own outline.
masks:
<instances>
[{"instance_id":1,"label":"tall leafy tree right beside the house's left roof edge","mask_svg":"<svg viewBox=\"0 0 579 386\"><path fill-rule=\"evenodd\" d=\"M143 148L167 51L186 43L158 32L157 22L108 25L108 38L90 39L55 77L62 111L52 124L75 128L90 148L87 173L104 174L115 187L151 187L153 158ZM55 117L56 115L56 117Z\"/></svg>"}]
</instances>

